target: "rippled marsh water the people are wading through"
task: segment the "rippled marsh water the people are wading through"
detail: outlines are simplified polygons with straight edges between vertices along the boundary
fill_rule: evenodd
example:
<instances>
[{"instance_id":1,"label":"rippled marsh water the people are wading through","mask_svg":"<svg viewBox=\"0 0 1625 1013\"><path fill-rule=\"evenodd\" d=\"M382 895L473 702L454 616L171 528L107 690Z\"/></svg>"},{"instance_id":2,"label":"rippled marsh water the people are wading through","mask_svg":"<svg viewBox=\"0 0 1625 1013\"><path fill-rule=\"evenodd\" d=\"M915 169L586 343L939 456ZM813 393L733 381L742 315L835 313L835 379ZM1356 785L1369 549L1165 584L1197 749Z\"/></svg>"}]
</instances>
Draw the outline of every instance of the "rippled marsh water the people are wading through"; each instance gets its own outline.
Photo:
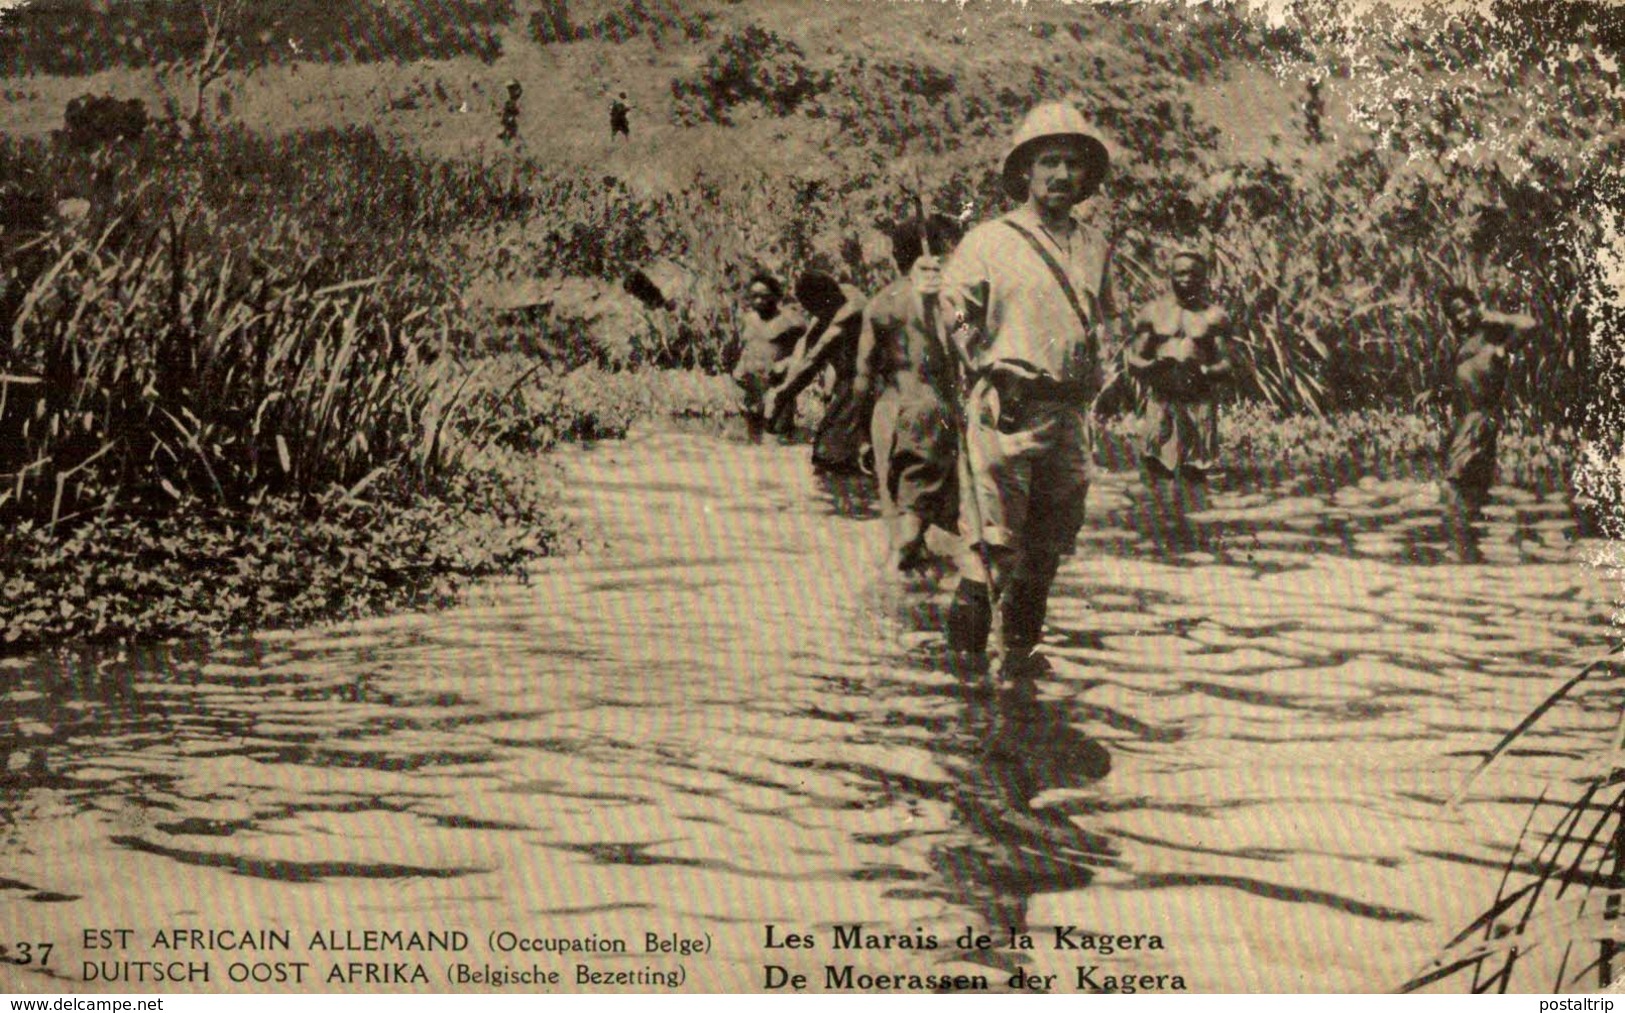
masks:
<instances>
[{"instance_id":1,"label":"rippled marsh water the people are wading through","mask_svg":"<svg viewBox=\"0 0 1625 1013\"><path fill-rule=\"evenodd\" d=\"M1172 530L1102 472L1053 672L990 698L942 657L951 577L882 577L873 499L806 447L645 431L561 457L588 545L466 606L6 662L0 941L55 956L0 989L266 987L237 961L306 961L270 985L304 989L356 989L341 961L437 989L458 961L559 989L583 963L728 990L848 964L1391 989L1493 899L1529 803L1618 714L1588 683L1443 805L1606 649L1614 589L1557 499L1498 489L1464 564L1420 480L1220 483ZM912 943L837 950L855 924ZM154 950L174 928L228 935ZM328 930L470 941L312 953ZM1087 933L1131 938L1069 948ZM119 977L172 959L211 977Z\"/></svg>"}]
</instances>

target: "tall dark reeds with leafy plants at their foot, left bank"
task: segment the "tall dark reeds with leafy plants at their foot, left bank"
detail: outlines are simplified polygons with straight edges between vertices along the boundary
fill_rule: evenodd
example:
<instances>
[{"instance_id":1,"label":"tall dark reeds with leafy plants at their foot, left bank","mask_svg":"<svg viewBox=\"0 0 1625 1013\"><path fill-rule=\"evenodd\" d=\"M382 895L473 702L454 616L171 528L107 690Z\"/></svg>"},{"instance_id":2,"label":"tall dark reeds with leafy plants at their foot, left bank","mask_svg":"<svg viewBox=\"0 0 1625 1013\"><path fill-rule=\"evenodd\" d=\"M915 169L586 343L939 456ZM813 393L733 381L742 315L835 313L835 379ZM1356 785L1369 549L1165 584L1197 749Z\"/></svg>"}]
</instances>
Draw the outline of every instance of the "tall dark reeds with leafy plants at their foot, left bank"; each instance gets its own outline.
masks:
<instances>
[{"instance_id":1,"label":"tall dark reeds with leafy plants at their foot, left bank","mask_svg":"<svg viewBox=\"0 0 1625 1013\"><path fill-rule=\"evenodd\" d=\"M557 548L452 291L387 236L335 257L297 198L250 213L174 151L8 154L91 198L3 249L0 642L358 615Z\"/></svg>"}]
</instances>

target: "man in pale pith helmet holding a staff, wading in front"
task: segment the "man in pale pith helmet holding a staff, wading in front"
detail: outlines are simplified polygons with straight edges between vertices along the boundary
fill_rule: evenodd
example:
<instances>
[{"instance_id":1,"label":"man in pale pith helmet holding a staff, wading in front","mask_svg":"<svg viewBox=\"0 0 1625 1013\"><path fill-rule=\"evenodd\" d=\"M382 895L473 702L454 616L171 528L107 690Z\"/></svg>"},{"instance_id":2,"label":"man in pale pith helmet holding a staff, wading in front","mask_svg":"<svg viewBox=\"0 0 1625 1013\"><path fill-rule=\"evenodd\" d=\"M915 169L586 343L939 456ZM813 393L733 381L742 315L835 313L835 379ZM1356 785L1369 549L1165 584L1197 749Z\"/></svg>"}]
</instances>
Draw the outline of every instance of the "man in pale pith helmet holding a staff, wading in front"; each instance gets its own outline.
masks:
<instances>
[{"instance_id":1,"label":"man in pale pith helmet holding a staff, wading in front","mask_svg":"<svg viewBox=\"0 0 1625 1013\"><path fill-rule=\"evenodd\" d=\"M1105 143L1071 104L1032 109L1003 167L1020 207L972 229L941 273L970 387L959 468L965 559L949 644L983 650L996 624L998 681L1042 670L1027 660L1084 524L1110 246L1072 211L1107 167Z\"/></svg>"}]
</instances>

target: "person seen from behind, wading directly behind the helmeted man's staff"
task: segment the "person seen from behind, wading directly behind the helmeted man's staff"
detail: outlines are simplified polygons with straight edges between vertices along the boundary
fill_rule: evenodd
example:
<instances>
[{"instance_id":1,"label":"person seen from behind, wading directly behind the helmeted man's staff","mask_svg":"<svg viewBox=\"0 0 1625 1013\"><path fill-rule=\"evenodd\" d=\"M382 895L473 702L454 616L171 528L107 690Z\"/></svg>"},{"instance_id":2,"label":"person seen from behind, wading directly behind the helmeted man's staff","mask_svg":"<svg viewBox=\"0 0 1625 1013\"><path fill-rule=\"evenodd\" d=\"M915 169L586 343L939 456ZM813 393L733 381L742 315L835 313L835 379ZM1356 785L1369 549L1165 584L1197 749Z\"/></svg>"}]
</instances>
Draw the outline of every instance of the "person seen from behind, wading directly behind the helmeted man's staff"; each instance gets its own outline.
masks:
<instances>
[{"instance_id":1,"label":"person seen from behind, wading directly behind the helmeted man's staff","mask_svg":"<svg viewBox=\"0 0 1625 1013\"><path fill-rule=\"evenodd\" d=\"M926 302L934 296L921 296L910 276L916 263L938 270L936 257L946 257L959 234L959 223L946 215L899 224L892 259L904 276L881 289L863 314L853 393L861 402L871 387L878 390L869 433L889 525L889 569L920 566L926 530L933 524L952 530L959 517L954 359L938 332L938 309Z\"/></svg>"}]
</instances>

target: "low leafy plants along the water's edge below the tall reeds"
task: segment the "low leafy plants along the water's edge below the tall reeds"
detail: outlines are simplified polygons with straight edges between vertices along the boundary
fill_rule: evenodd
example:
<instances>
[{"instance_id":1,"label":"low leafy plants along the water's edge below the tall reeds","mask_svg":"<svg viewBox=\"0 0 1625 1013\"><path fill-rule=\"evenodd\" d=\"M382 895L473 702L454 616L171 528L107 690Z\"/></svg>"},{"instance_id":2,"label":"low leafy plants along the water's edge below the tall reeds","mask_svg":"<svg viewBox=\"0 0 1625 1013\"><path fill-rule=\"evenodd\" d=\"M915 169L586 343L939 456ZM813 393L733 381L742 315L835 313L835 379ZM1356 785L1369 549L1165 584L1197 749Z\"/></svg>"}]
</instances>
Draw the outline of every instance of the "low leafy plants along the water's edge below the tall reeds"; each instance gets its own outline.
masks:
<instances>
[{"instance_id":1,"label":"low leafy plants along the water's edge below the tall reeds","mask_svg":"<svg viewBox=\"0 0 1625 1013\"><path fill-rule=\"evenodd\" d=\"M219 636L450 602L476 577L561 548L556 486L530 460L489 457L434 499L330 494L250 512L177 504L0 530L0 652L50 641Z\"/></svg>"}]
</instances>

